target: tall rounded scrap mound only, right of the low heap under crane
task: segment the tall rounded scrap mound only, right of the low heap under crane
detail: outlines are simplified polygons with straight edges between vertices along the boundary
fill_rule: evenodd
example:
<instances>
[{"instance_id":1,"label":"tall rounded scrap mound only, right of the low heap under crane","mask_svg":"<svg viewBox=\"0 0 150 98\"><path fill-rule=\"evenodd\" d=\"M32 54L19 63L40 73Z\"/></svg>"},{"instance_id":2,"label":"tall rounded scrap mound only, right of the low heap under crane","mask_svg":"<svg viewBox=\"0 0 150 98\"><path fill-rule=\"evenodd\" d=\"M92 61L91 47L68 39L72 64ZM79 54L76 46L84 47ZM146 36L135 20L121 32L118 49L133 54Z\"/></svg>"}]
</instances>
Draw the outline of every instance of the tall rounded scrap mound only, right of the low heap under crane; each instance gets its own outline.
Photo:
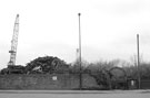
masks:
<instances>
[{"instance_id":1,"label":"tall rounded scrap mound only, right of the low heap under crane","mask_svg":"<svg viewBox=\"0 0 150 98\"><path fill-rule=\"evenodd\" d=\"M69 65L67 65L63 61L58 57L44 56L38 57L26 66L26 73L60 73L62 70L69 69Z\"/></svg>"}]
</instances>

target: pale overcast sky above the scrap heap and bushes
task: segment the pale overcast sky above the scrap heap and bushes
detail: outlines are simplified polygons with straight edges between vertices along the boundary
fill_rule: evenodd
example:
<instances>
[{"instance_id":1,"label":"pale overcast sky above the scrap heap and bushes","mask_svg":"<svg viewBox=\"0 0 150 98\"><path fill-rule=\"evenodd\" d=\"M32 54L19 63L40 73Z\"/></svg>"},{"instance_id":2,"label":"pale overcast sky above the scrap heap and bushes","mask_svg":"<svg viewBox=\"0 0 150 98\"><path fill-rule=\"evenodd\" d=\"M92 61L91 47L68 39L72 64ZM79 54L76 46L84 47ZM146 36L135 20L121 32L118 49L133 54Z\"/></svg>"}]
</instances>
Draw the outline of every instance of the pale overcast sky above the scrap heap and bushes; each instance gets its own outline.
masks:
<instances>
[{"instance_id":1,"label":"pale overcast sky above the scrap heap and bushes","mask_svg":"<svg viewBox=\"0 0 150 98\"><path fill-rule=\"evenodd\" d=\"M82 58L88 62L140 55L150 62L149 0L1 0L0 68L7 67L16 15L19 14L17 65L39 56L77 58L81 13Z\"/></svg>"}]
</instances>

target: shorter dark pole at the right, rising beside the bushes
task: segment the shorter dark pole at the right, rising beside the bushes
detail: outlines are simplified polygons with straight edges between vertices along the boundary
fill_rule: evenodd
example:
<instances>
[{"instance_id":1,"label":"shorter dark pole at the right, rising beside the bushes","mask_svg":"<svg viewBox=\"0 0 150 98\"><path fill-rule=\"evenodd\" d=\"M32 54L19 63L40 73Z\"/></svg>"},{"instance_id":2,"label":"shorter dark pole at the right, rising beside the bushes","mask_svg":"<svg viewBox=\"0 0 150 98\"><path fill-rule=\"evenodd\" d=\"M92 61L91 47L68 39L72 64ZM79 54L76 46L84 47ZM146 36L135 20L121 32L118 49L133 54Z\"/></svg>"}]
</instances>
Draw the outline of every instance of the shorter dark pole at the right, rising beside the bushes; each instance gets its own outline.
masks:
<instances>
[{"instance_id":1,"label":"shorter dark pole at the right, rising beside the bushes","mask_svg":"<svg viewBox=\"0 0 150 98\"><path fill-rule=\"evenodd\" d=\"M139 57L139 34L137 34L137 52L138 52L138 88L140 89L141 86L141 77L140 77L140 57Z\"/></svg>"}]
</instances>

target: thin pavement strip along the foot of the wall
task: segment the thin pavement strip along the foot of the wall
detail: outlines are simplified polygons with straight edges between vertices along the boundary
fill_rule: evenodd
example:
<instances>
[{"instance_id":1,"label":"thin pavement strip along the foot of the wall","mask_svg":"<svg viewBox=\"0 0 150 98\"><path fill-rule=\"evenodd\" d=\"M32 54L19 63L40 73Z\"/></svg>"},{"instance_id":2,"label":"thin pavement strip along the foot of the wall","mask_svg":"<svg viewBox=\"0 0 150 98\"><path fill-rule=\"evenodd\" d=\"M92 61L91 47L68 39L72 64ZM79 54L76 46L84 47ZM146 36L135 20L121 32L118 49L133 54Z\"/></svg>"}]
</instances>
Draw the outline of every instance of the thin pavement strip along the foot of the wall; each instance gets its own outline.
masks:
<instances>
[{"instance_id":1,"label":"thin pavement strip along the foot of the wall","mask_svg":"<svg viewBox=\"0 0 150 98\"><path fill-rule=\"evenodd\" d=\"M140 89L140 90L0 90L0 94L150 94L150 89Z\"/></svg>"}]
</instances>

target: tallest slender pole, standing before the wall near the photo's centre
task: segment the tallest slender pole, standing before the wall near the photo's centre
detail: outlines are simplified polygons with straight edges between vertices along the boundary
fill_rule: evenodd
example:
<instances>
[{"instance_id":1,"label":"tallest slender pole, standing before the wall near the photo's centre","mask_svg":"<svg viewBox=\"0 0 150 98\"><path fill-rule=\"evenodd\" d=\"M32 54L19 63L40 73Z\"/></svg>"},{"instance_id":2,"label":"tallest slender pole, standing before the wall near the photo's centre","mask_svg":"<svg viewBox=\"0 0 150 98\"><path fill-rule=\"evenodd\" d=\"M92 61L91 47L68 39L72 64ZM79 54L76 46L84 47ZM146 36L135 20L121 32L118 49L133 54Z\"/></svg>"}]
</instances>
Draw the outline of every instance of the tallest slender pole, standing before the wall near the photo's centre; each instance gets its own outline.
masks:
<instances>
[{"instance_id":1,"label":"tallest slender pole, standing before the wall near the photo's centre","mask_svg":"<svg viewBox=\"0 0 150 98\"><path fill-rule=\"evenodd\" d=\"M80 15L81 13L78 13L79 17L79 66L80 66L80 90L82 89L82 68L81 68L81 25L80 25Z\"/></svg>"}]
</instances>

